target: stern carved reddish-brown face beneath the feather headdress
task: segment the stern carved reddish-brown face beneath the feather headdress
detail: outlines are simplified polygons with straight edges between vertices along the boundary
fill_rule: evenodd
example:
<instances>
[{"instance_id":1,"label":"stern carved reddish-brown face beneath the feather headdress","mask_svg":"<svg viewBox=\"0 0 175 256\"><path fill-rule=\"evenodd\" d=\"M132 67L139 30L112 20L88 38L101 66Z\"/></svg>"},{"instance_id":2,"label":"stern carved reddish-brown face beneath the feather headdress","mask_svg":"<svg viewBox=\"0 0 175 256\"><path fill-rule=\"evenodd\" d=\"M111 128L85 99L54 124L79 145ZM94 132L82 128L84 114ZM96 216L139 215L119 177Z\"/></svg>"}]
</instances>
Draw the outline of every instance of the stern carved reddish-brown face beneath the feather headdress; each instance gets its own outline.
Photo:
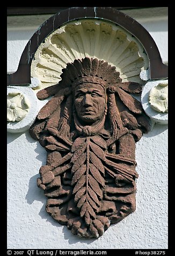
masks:
<instances>
[{"instance_id":1,"label":"stern carved reddish-brown face beneath the feather headdress","mask_svg":"<svg viewBox=\"0 0 175 256\"><path fill-rule=\"evenodd\" d=\"M77 115L84 122L92 124L103 117L106 93L100 84L79 84L75 88L74 99Z\"/></svg>"}]
</instances>

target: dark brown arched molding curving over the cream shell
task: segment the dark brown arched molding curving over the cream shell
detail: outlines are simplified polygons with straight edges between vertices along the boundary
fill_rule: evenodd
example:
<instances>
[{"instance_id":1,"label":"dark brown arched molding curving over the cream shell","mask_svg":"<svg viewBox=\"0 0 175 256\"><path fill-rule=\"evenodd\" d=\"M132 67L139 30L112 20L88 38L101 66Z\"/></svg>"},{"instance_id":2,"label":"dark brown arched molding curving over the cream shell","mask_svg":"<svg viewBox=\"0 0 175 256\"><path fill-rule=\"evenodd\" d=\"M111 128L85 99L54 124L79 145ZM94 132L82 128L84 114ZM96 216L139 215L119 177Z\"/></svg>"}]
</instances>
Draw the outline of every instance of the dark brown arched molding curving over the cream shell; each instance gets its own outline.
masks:
<instances>
[{"instance_id":1,"label":"dark brown arched molding curving over the cream shell","mask_svg":"<svg viewBox=\"0 0 175 256\"><path fill-rule=\"evenodd\" d=\"M19 61L18 69L8 74L9 85L31 83L31 62L41 42L50 33L71 20L81 18L100 18L111 21L133 34L143 45L149 58L150 80L168 77L168 67L162 62L161 55L154 39L135 19L110 7L72 7L56 13L43 23L28 41Z\"/></svg>"}]
</instances>

